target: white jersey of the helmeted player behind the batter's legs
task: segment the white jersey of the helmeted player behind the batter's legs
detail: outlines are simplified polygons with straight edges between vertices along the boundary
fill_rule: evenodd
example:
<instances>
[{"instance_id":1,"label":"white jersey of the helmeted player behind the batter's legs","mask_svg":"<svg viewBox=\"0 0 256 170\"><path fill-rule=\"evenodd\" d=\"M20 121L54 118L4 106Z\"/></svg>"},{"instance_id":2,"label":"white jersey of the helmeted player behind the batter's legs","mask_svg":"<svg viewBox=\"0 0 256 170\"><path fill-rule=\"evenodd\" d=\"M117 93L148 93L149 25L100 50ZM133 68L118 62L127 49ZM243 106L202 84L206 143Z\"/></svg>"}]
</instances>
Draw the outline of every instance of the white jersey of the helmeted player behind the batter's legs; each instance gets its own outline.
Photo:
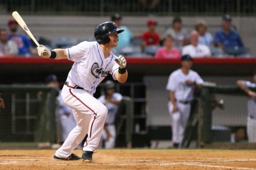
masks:
<instances>
[{"instance_id":1,"label":"white jersey of the helmeted player behind the batter's legs","mask_svg":"<svg viewBox=\"0 0 256 170\"><path fill-rule=\"evenodd\" d=\"M122 100L122 94L120 93L114 93L112 97L112 101L121 101ZM98 98L98 101L101 103L105 103L105 95L102 95ZM113 103L106 103L105 105L108 109L108 115L105 121L105 124L114 124L115 122L115 115L117 113L118 105L115 105Z\"/></svg>"}]
</instances>

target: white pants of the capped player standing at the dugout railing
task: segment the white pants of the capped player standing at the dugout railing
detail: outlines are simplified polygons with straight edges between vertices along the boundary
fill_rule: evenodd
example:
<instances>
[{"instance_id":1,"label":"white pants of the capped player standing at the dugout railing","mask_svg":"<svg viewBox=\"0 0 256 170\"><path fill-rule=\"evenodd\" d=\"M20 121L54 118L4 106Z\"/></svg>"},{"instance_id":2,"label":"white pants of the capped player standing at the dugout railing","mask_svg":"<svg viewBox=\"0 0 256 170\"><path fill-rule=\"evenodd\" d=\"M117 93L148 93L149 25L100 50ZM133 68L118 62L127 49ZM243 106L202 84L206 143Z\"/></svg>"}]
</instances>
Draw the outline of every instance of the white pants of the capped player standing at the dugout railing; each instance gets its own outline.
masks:
<instances>
[{"instance_id":1,"label":"white pants of the capped player standing at the dugout railing","mask_svg":"<svg viewBox=\"0 0 256 170\"><path fill-rule=\"evenodd\" d=\"M178 111L173 113L173 103L171 103L171 101L168 102L169 114L172 117L173 143L179 143L179 145L181 145L184 131L190 115L191 104L183 104L177 102L177 108Z\"/></svg>"}]
</instances>

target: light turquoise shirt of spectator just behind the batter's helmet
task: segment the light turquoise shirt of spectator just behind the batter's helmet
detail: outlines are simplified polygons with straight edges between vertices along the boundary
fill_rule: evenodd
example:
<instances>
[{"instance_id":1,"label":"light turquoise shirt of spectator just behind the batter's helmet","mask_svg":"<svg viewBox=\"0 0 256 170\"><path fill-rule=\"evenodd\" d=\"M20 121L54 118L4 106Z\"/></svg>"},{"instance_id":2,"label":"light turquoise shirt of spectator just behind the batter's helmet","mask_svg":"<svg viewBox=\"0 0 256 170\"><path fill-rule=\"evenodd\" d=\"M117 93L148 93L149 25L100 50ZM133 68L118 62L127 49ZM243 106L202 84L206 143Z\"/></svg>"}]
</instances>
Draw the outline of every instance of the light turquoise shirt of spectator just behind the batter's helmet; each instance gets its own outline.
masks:
<instances>
[{"instance_id":1,"label":"light turquoise shirt of spectator just behind the batter's helmet","mask_svg":"<svg viewBox=\"0 0 256 170\"><path fill-rule=\"evenodd\" d=\"M125 46L130 46L130 40L133 38L133 33L126 26L119 27L124 29L124 32L118 34L119 40L117 42L117 48L122 48Z\"/></svg>"}]
</instances>

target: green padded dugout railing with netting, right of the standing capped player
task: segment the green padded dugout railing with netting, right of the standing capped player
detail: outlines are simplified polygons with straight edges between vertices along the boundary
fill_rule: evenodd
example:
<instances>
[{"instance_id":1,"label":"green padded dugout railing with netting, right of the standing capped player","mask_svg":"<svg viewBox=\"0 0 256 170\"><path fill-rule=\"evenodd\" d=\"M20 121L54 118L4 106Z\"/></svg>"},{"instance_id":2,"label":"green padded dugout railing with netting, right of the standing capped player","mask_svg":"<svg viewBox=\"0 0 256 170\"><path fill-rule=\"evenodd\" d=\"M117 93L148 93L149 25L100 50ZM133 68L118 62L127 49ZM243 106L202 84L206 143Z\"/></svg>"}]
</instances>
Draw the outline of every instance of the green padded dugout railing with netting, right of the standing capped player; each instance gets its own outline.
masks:
<instances>
[{"instance_id":1,"label":"green padded dugout railing with netting, right of the standing capped player","mask_svg":"<svg viewBox=\"0 0 256 170\"><path fill-rule=\"evenodd\" d=\"M256 88L251 88L256 91ZM183 139L183 147L212 147L231 143L247 145L247 100L237 86L201 86ZM256 132L255 132L256 133ZM237 145L234 145L237 147ZM250 146L250 145L248 145Z\"/></svg>"}]
</instances>

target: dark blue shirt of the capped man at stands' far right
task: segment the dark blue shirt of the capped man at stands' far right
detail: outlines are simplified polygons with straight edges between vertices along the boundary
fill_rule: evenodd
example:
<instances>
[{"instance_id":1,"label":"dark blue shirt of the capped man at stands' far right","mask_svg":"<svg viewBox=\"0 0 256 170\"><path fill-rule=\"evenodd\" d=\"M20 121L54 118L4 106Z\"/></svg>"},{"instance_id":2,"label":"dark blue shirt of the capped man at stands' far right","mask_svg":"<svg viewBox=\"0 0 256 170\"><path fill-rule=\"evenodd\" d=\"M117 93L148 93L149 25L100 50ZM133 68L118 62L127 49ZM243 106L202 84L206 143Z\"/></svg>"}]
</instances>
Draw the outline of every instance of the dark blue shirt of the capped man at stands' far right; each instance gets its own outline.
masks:
<instances>
[{"instance_id":1,"label":"dark blue shirt of the capped man at stands' far right","mask_svg":"<svg viewBox=\"0 0 256 170\"><path fill-rule=\"evenodd\" d=\"M243 47L243 42L237 31L230 29L229 34L225 34L222 29L218 30L213 39L214 44L221 43L225 48L228 47Z\"/></svg>"}]
</instances>

